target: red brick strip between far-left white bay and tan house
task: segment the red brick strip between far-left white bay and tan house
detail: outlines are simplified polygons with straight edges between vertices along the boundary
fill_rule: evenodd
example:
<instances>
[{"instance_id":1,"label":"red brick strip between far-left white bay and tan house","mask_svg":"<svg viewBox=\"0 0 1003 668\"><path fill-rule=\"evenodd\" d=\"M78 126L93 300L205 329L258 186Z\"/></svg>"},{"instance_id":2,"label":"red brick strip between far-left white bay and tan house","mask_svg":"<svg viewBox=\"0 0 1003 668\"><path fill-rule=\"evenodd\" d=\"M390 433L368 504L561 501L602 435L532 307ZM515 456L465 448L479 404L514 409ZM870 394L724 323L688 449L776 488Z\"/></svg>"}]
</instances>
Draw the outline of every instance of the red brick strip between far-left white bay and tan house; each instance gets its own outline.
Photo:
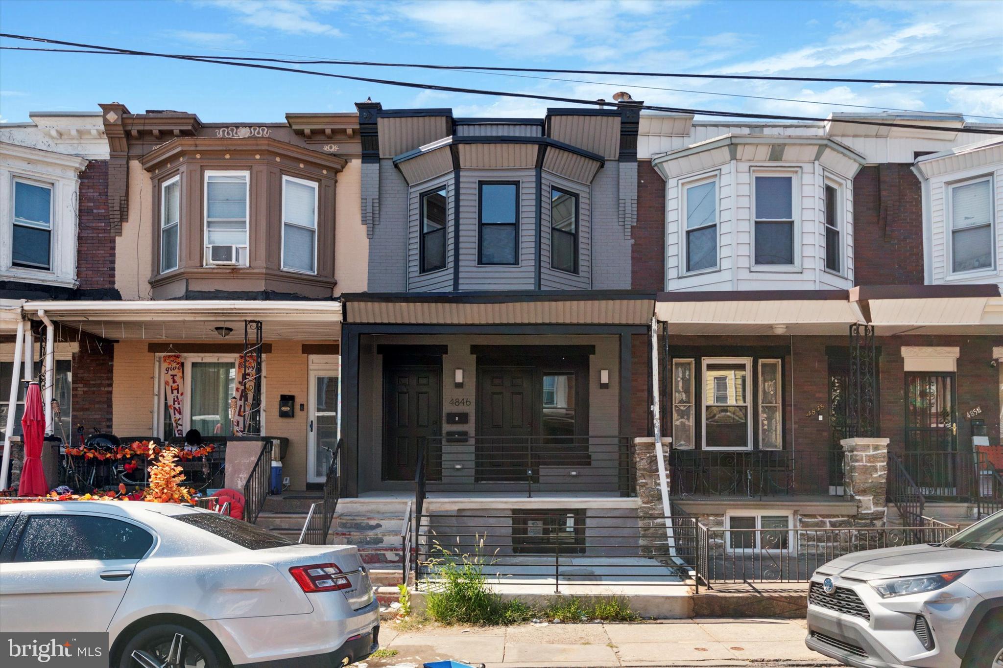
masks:
<instances>
[{"instance_id":1,"label":"red brick strip between far-left white bay and tan house","mask_svg":"<svg viewBox=\"0 0 1003 668\"><path fill-rule=\"evenodd\" d=\"M114 288L115 236L108 221L108 161L91 160L80 174L77 278L81 289Z\"/></svg>"}]
</instances>

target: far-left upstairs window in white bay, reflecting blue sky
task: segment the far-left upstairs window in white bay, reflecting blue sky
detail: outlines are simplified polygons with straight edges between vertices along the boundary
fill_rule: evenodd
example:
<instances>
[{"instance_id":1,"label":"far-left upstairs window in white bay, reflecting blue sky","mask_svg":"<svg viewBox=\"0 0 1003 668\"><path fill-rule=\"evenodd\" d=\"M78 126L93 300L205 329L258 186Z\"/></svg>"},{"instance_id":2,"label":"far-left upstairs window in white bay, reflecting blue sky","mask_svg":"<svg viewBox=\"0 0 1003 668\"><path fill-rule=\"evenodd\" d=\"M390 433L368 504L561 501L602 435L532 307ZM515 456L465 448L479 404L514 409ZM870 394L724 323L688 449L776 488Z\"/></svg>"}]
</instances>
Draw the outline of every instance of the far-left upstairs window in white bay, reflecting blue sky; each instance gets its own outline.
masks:
<instances>
[{"instance_id":1,"label":"far-left upstairs window in white bay, reflecting blue sky","mask_svg":"<svg viewBox=\"0 0 1003 668\"><path fill-rule=\"evenodd\" d=\"M14 179L11 264L52 268L52 186Z\"/></svg>"}]
</instances>

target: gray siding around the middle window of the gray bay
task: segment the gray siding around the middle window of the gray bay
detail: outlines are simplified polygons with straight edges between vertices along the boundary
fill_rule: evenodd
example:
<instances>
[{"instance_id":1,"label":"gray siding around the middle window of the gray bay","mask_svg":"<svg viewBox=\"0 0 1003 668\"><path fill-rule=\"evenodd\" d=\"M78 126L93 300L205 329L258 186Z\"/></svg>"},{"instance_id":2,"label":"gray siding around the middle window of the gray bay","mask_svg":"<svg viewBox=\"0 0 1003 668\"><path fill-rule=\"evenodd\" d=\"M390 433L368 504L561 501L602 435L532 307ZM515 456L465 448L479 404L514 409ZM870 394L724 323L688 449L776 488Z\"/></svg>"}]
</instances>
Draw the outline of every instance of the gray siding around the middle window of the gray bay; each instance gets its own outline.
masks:
<instances>
[{"instance_id":1,"label":"gray siding around the middle window of the gray bay","mask_svg":"<svg viewBox=\"0 0 1003 668\"><path fill-rule=\"evenodd\" d=\"M477 182L519 181L517 266L477 265ZM464 169L459 177L459 289L534 289L537 192L534 169Z\"/></svg>"}]
</instances>

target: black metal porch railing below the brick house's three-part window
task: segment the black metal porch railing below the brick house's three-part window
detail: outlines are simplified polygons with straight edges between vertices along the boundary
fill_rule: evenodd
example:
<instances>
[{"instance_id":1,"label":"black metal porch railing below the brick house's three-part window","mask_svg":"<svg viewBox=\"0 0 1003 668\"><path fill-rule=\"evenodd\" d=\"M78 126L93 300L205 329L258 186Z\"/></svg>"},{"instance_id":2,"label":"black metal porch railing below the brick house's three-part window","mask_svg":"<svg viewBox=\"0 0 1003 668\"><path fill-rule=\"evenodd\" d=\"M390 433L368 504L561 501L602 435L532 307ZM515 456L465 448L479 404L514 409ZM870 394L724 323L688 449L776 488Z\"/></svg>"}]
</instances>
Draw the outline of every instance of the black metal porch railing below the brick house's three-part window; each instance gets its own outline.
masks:
<instances>
[{"instance_id":1,"label":"black metal porch railing below the brick house's three-part window","mask_svg":"<svg viewBox=\"0 0 1003 668\"><path fill-rule=\"evenodd\" d=\"M842 494L842 460L843 453L827 450L672 450L670 489L693 498Z\"/></svg>"}]
</instances>

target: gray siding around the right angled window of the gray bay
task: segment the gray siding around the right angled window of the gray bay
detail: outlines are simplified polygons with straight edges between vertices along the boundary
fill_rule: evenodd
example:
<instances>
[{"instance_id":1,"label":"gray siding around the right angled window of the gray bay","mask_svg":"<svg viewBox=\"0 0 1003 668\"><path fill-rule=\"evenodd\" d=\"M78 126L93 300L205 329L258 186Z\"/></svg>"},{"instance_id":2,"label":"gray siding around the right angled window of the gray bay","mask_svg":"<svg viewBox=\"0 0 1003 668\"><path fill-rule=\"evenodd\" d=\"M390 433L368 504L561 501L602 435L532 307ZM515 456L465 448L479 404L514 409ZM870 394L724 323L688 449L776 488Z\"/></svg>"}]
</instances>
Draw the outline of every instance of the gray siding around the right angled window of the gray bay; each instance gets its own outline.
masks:
<instances>
[{"instance_id":1,"label":"gray siding around the right angled window of the gray bay","mask_svg":"<svg viewBox=\"0 0 1003 668\"><path fill-rule=\"evenodd\" d=\"M551 188L557 187L578 195L578 266L577 274L551 268ZM541 200L540 287L542 289L589 289L592 283L592 193L588 185L545 171L544 196Z\"/></svg>"}]
</instances>

